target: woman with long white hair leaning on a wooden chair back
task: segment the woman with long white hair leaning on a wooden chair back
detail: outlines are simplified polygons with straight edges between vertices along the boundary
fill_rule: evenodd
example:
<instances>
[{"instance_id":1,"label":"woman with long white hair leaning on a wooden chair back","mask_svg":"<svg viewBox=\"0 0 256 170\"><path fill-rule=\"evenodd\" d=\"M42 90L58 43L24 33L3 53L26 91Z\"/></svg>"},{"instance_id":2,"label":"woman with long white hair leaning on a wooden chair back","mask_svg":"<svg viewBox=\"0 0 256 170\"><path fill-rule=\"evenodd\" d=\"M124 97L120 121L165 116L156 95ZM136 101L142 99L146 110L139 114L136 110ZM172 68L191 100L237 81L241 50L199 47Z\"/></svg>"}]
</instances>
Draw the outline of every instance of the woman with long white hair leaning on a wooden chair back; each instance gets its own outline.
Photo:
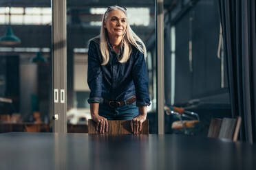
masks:
<instances>
[{"instance_id":1,"label":"woman with long white hair leaning on a wooden chair back","mask_svg":"<svg viewBox=\"0 0 256 170\"><path fill-rule=\"evenodd\" d=\"M127 23L126 8L107 8L100 35L89 41L88 51L88 103L98 132L107 132L107 119L132 120L132 132L142 130L150 105L146 55Z\"/></svg>"}]
</instances>

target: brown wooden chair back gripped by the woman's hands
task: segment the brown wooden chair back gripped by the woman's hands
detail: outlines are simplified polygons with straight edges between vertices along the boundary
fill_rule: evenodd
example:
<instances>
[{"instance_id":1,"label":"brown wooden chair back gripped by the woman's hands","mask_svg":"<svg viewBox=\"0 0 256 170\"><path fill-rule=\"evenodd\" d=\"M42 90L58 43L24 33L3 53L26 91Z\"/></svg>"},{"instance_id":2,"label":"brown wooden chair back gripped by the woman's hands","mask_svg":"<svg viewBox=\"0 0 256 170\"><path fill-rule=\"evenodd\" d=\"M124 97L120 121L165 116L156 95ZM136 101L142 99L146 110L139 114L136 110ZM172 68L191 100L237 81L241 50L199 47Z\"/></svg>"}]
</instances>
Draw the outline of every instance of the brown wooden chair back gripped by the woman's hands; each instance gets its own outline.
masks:
<instances>
[{"instance_id":1,"label":"brown wooden chair back gripped by the woman's hands","mask_svg":"<svg viewBox=\"0 0 256 170\"><path fill-rule=\"evenodd\" d=\"M105 132L105 134L133 134L131 132L131 121L108 120L107 123L109 124L109 129L108 132ZM89 119L88 121L88 133L98 134L96 131L96 123L92 121L92 119ZM148 119L142 123L142 131L139 134L149 134Z\"/></svg>"}]
</instances>

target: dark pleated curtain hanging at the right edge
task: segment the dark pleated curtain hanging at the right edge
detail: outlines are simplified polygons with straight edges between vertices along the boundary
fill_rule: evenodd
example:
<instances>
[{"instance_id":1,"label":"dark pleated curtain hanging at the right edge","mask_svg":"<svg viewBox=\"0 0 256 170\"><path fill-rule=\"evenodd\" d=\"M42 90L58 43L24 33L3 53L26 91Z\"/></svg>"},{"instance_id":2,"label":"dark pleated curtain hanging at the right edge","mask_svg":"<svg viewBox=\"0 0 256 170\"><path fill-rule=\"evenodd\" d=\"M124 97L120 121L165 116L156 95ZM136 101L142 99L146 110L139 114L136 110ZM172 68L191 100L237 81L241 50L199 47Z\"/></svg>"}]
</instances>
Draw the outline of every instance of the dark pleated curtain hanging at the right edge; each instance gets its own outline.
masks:
<instances>
[{"instance_id":1,"label":"dark pleated curtain hanging at the right edge","mask_svg":"<svg viewBox=\"0 0 256 170\"><path fill-rule=\"evenodd\" d=\"M255 0L219 0L233 117L242 117L240 140L256 142Z\"/></svg>"}]
</instances>

